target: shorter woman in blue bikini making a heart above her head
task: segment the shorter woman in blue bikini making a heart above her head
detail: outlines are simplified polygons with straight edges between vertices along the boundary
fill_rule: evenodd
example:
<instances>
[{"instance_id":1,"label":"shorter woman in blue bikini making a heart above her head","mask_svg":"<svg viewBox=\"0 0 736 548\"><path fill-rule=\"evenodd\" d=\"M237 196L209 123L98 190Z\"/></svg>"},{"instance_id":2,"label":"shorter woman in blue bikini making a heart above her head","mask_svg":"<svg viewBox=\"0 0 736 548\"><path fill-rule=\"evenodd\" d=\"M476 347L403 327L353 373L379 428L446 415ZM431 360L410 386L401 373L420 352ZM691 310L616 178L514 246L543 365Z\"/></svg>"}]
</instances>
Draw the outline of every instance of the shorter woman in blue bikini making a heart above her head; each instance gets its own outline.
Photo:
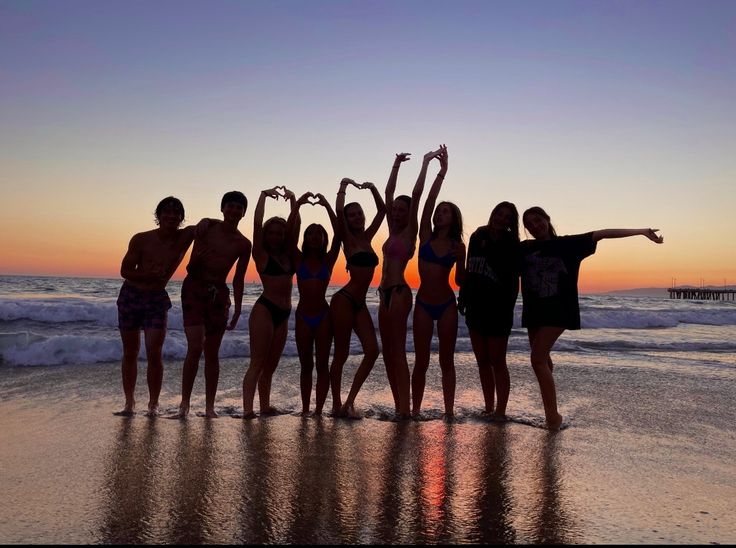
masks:
<instances>
[{"instance_id":1,"label":"shorter woman in blue bikini making a heart above her head","mask_svg":"<svg viewBox=\"0 0 736 548\"><path fill-rule=\"evenodd\" d=\"M316 198L317 201L313 201ZM325 294L330 284L332 269L340 252L340 238L337 236L337 218L330 203L322 194L311 192L302 195L292 209L287 226L294 226L299 208L304 204L321 205L327 210L332 225L332 245L327 250L328 236L325 228L313 223L304 230L301 250L294 240L292 256L296 267L299 304L294 315L294 337L301 364L300 387L302 414L309 413L312 398L312 370L317 365L317 387L315 415L322 414L322 407L330 389L330 346L332 345L332 324L330 305ZM288 229L287 229L288 230Z\"/></svg>"}]
</instances>

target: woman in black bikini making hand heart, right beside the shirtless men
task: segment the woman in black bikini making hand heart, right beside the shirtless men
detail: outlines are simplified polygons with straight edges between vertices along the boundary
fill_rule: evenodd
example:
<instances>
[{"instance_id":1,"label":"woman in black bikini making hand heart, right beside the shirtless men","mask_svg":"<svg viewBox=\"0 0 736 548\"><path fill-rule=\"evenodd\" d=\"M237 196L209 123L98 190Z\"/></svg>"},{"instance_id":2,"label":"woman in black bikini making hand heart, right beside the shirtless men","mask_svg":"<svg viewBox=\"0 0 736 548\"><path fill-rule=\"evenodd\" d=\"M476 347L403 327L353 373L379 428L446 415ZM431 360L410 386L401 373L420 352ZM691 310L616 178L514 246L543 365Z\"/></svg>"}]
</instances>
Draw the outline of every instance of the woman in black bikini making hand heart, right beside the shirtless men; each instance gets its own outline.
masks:
<instances>
[{"instance_id":1,"label":"woman in black bikini making hand heart, right beside the shirtless men","mask_svg":"<svg viewBox=\"0 0 736 548\"><path fill-rule=\"evenodd\" d=\"M283 195L278 192L282 188ZM250 335L250 366L243 377L243 418L253 418L253 398L256 386L261 414L276 413L271 406L271 379L286 344L291 314L291 288L294 263L289 251L299 227L287 231L286 220L271 217L263 222L266 198L291 201L296 207L294 193L284 187L261 192L253 221L253 262L261 277L263 293L251 309L248 320ZM298 223L295 223L298 225Z\"/></svg>"}]
</instances>

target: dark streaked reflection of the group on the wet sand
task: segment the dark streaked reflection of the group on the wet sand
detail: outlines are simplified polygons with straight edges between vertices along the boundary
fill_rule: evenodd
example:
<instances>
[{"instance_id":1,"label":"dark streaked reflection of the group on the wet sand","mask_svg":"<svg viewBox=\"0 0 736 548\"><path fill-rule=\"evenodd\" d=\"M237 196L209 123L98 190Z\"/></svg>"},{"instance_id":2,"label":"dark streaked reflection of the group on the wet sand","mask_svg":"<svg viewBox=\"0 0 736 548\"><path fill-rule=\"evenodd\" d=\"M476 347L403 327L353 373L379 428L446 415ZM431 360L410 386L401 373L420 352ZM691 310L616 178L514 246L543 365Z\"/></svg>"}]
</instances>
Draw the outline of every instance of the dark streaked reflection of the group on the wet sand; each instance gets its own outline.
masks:
<instances>
[{"instance_id":1,"label":"dark streaked reflection of the group on the wet sand","mask_svg":"<svg viewBox=\"0 0 736 548\"><path fill-rule=\"evenodd\" d=\"M100 540L576 542L556 439L441 421L288 416L185 421L175 433L123 421L106 461Z\"/></svg>"}]
</instances>

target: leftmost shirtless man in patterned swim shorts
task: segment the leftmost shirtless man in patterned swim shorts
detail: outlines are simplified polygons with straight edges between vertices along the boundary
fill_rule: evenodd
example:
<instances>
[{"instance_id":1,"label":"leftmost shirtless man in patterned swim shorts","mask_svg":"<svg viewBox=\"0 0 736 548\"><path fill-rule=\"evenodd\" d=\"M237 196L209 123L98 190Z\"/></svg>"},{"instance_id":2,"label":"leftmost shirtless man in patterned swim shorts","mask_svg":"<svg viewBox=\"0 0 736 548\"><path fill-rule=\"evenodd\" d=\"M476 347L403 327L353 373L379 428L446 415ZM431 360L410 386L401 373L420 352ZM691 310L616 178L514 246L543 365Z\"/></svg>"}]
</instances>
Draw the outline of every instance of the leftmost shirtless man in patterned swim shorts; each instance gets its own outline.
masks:
<instances>
[{"instance_id":1,"label":"leftmost shirtless man in patterned swim shorts","mask_svg":"<svg viewBox=\"0 0 736 548\"><path fill-rule=\"evenodd\" d=\"M118 296L118 327L123 341L123 392L125 407L116 415L135 413L135 384L138 378L138 353L143 329L148 358L148 412L158 414L164 366L161 358L166 337L166 320L171 301L166 284L181 264L192 243L195 227L179 228L184 221L184 206L169 196L156 206L158 228L139 232L130 239L120 265L125 279Z\"/></svg>"}]
</instances>

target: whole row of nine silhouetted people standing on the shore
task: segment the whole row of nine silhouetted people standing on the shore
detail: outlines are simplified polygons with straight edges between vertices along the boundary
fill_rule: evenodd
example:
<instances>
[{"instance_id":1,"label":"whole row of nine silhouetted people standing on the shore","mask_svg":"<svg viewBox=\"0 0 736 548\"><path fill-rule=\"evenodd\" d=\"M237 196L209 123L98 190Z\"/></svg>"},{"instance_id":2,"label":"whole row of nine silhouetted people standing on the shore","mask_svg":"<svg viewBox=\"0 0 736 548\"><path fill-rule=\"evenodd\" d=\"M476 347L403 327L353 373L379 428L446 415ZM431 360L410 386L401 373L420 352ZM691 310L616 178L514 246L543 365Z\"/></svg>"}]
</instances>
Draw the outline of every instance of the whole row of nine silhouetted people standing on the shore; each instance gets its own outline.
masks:
<instances>
[{"instance_id":1,"label":"whole row of nine silhouetted people standing on the shore","mask_svg":"<svg viewBox=\"0 0 736 548\"><path fill-rule=\"evenodd\" d=\"M521 279L522 326L528 329L531 364L539 381L547 426L558 429L562 416L557 409L550 352L565 329L580 328L577 280L581 261L593 254L597 242L604 238L643 235L662 243L662 237L657 229L650 228L605 229L557 236L549 215L540 207L532 207L522 216L531 238L521 241L516 206L501 202L493 208L488 224L473 232L466 249L459 208L452 202L437 203L448 170L447 148L442 145L424 155L411 196L395 196L399 170L409 159L409 153L396 154L384 196L372 183L343 179L334 211L322 194L306 192L297 199L283 186L263 190L256 205L252 244L238 230L248 207L241 192L232 191L223 196L222 220L202 219L196 226L186 228L180 228L184 220L181 201L171 196L162 200L156 208L158 228L134 235L121 265L125 281L118 298L118 316L126 401L120 414L130 415L135 409L141 329L148 360L148 414L159 413L158 398L163 378L161 352L167 311L171 308L166 284L193 242L181 290L187 355L182 373L181 403L173 418L184 418L189 413L202 354L205 361L204 416L217 417L214 403L220 344L225 332L238 323L245 272L252 258L263 292L249 317L250 364L243 378L243 412L238 417L256 417L253 410L256 389L260 413L277 412L270 401L271 381L286 344L296 274L299 301L294 337L301 364L303 413L310 411L316 368L314 413L322 414L331 390L333 416L358 418L356 397L382 352L397 417L418 416L436 325L445 417L451 418L455 400L458 314L463 314L478 363L485 413L503 419L510 391L506 350ZM420 216L419 202L434 160L439 163L439 170ZM351 187L368 190L373 196L376 214L368 226L360 204L345 203ZM264 222L269 199L290 202L288 219L271 217ZM299 247L299 212L306 204L326 209L332 225L331 242L325 227L313 223L304 230ZM384 217L387 217L389 234L381 248L383 260L379 261L372 242ZM328 302L327 289L341 246L349 280ZM420 278L416 298L405 278L407 264L415 253L418 254ZM365 302L379 262L382 263L378 287L380 350ZM234 307L230 313L226 278L233 265L236 265L232 281ZM454 282L460 288L458 298L451 284L453 269ZM410 372L406 339L412 308L415 360ZM342 371L353 332L360 340L362 359L343 400Z\"/></svg>"}]
</instances>

